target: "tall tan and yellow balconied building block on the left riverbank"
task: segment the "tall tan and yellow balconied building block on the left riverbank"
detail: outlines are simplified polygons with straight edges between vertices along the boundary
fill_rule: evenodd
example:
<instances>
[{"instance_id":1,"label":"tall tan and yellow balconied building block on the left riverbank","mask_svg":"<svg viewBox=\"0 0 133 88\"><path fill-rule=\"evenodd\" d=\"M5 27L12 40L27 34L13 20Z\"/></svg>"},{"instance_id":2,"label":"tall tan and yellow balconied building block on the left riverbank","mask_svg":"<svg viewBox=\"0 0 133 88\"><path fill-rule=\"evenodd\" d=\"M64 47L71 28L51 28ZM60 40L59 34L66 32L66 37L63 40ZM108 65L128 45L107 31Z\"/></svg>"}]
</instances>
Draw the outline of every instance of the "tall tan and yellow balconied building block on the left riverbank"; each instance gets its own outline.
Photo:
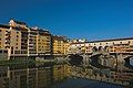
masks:
<instances>
[{"instance_id":1,"label":"tall tan and yellow balconied building block on the left riverbank","mask_svg":"<svg viewBox=\"0 0 133 88\"><path fill-rule=\"evenodd\" d=\"M52 54L51 33L10 20L0 24L0 59L29 59Z\"/></svg>"}]
</instances>

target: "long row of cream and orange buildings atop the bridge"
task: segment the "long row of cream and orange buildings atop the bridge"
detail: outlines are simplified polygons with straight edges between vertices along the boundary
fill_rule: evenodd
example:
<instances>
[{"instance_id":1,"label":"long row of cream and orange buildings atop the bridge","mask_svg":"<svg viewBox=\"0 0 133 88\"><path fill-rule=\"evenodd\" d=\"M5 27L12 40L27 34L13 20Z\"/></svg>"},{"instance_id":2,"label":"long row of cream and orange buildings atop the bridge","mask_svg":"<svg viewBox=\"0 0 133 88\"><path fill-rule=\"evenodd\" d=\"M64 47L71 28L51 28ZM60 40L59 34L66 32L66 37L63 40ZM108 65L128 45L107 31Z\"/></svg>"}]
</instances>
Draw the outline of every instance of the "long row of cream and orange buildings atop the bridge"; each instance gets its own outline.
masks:
<instances>
[{"instance_id":1,"label":"long row of cream and orange buildings atop the bridge","mask_svg":"<svg viewBox=\"0 0 133 88\"><path fill-rule=\"evenodd\" d=\"M133 53L133 37L92 41L83 43L71 43L71 53L109 52L109 53Z\"/></svg>"}]
</instances>

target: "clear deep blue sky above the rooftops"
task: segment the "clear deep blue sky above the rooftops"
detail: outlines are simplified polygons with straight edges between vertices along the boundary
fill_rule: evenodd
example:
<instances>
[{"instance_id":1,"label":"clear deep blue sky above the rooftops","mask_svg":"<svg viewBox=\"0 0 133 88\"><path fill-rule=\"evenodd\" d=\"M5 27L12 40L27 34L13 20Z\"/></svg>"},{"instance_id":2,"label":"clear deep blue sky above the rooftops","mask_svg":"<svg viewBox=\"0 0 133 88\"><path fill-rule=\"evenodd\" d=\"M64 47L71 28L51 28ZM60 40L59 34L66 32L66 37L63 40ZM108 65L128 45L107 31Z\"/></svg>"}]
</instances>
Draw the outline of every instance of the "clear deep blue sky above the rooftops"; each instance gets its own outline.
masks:
<instances>
[{"instance_id":1,"label":"clear deep blue sky above the rooftops","mask_svg":"<svg viewBox=\"0 0 133 88\"><path fill-rule=\"evenodd\" d=\"M0 0L0 24L10 19L70 38L133 37L133 0Z\"/></svg>"}]
</instances>

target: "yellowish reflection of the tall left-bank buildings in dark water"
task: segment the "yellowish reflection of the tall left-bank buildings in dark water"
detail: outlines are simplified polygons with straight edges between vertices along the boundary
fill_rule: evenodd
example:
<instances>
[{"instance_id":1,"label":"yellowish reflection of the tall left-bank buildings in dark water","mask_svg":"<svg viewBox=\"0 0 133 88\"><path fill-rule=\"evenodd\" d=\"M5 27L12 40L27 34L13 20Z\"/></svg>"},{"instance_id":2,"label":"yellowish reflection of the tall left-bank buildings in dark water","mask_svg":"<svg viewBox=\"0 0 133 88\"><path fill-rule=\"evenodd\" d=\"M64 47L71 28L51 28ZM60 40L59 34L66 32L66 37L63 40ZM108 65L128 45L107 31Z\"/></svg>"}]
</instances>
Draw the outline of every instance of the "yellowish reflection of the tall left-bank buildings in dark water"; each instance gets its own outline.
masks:
<instances>
[{"instance_id":1,"label":"yellowish reflection of the tall left-bank buildings in dark water","mask_svg":"<svg viewBox=\"0 0 133 88\"><path fill-rule=\"evenodd\" d=\"M0 66L0 88L51 88L69 73L68 65Z\"/></svg>"}]
</instances>

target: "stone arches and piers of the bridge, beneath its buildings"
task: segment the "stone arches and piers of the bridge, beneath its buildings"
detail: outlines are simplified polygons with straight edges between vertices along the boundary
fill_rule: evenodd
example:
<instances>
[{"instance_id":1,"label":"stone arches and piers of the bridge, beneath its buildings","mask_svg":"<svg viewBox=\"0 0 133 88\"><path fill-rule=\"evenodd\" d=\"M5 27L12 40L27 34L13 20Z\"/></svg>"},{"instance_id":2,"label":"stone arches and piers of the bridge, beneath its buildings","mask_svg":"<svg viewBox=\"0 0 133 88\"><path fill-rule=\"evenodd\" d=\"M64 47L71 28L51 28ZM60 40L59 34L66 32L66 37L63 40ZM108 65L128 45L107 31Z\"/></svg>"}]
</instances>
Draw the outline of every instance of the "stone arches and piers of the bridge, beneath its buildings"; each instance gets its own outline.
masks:
<instances>
[{"instance_id":1,"label":"stone arches and piers of the bridge, beneath its buildings","mask_svg":"<svg viewBox=\"0 0 133 88\"><path fill-rule=\"evenodd\" d=\"M92 54L79 54L83 57L83 65L93 68L111 68L112 70L132 70L133 55L110 54L108 52L93 52ZM68 55L65 59L71 59ZM76 59L76 58L75 58Z\"/></svg>"}]
</instances>

